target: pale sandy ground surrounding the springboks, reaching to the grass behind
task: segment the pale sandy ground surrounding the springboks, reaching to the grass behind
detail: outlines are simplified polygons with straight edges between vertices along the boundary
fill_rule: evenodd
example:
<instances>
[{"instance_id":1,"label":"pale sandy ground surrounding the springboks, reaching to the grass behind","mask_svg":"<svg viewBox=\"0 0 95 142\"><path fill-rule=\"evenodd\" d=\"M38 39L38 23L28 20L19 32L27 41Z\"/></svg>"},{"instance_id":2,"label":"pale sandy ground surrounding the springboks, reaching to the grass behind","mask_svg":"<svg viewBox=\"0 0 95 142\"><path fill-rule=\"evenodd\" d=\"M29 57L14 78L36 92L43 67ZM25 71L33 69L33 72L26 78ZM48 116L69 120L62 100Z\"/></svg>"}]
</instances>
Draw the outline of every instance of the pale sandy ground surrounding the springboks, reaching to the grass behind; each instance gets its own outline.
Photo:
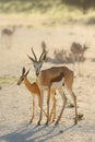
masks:
<instances>
[{"instance_id":1,"label":"pale sandy ground surrounding the springboks, reaching to the grass behind","mask_svg":"<svg viewBox=\"0 0 95 142\"><path fill-rule=\"evenodd\" d=\"M40 43L45 40L52 57L54 49L70 50L72 42L86 44L90 48L85 52L86 60L81 63L82 76L74 79L73 91L78 97L78 111L84 117L76 126L73 126L74 108L64 109L58 126L50 123L46 127L45 117L41 126L36 127L39 109L36 107L36 118L32 125L28 121L32 116L32 96L24 85L17 86L16 82L1 83L0 90L0 142L95 142L95 31L94 26L66 25L56 28L27 28L16 27L9 39L11 48L0 43L0 78L21 75L22 67L31 68L29 76L34 78L33 64L27 59L31 47L37 56L40 55ZM0 28L1 33L2 27ZM1 39L1 36L0 36ZM43 69L57 66L44 63ZM72 69L72 63L63 64ZM78 72L75 66L75 74ZM67 97L71 96L64 88ZM46 97L45 97L46 98ZM61 97L57 95L57 116L61 109ZM37 105L37 98L36 98ZM44 108L46 105L44 103Z\"/></svg>"}]
</instances>

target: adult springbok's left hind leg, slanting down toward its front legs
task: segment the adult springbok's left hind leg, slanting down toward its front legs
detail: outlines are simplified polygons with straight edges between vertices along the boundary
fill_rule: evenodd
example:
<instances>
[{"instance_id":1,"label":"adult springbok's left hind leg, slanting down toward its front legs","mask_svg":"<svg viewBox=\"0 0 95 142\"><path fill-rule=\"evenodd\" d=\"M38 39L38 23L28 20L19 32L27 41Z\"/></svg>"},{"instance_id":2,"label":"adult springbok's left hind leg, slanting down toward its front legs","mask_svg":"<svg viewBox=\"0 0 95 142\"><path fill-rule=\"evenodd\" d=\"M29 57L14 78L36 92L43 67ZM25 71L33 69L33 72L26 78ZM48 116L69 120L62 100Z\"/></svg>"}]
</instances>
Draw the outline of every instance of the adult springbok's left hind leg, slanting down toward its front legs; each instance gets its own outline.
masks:
<instances>
[{"instance_id":1,"label":"adult springbok's left hind leg, slanting down toward its front legs","mask_svg":"<svg viewBox=\"0 0 95 142\"><path fill-rule=\"evenodd\" d=\"M64 92L63 92L63 88L62 88L61 91L59 91L59 93L60 93L60 95L61 95L61 97L62 97L63 105L62 105L62 109L61 109L61 111L60 111L60 115L59 115L59 117L58 117L58 119L57 119L57 121L56 121L56 125L58 125L58 122L59 122L59 120L60 120L60 118L61 118L61 116L62 116L62 114L63 114L66 104L67 104L67 97L66 97L66 94L64 94Z\"/></svg>"}]
</instances>

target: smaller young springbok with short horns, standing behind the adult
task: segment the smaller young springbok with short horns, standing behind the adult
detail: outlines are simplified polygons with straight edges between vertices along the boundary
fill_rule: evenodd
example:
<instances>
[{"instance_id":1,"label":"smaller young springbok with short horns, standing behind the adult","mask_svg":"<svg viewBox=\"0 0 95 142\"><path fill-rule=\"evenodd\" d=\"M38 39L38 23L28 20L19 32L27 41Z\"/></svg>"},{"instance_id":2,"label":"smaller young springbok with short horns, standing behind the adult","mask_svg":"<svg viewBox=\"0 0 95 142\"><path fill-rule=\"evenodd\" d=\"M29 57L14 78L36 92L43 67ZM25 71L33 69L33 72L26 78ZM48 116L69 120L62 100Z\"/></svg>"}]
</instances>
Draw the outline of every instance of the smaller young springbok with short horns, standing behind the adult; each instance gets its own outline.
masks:
<instances>
[{"instance_id":1,"label":"smaller young springbok with short horns, standing behind the adult","mask_svg":"<svg viewBox=\"0 0 95 142\"><path fill-rule=\"evenodd\" d=\"M23 68L22 70L22 75L20 76L20 80L17 81L17 85L20 85L22 82L24 82L26 88L32 93L33 95L33 115L32 115L32 119L29 122L33 121L34 117L35 117L35 95L37 95L38 97L38 106L40 108L40 115L39 115L39 120L37 122L37 125L40 125L40 120L41 120L41 111L44 111L45 116L47 117L45 110L43 109L43 103L41 103L41 97L40 97L40 91L39 91L39 87L38 85L36 84L36 82L34 83L31 83L27 79L27 74L29 73L29 70L28 71L25 71L25 68ZM55 98L55 88L51 91L51 98L52 98L52 109L51 109L51 113L50 113L50 117L52 116L52 121L55 121L55 118L56 118L56 98Z\"/></svg>"}]
</instances>

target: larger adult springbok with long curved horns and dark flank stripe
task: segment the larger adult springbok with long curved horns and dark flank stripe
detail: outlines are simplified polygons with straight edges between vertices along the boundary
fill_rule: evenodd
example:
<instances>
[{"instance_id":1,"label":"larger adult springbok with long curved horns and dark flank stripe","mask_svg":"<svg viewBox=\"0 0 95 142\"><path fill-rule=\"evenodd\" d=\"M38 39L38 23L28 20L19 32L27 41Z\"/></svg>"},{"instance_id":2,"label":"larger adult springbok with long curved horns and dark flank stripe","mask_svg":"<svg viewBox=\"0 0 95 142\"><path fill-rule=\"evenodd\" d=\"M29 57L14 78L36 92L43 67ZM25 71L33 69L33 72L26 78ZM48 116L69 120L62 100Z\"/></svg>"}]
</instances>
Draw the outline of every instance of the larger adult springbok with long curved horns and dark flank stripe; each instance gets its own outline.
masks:
<instances>
[{"instance_id":1,"label":"larger adult springbok with long curved horns and dark flank stripe","mask_svg":"<svg viewBox=\"0 0 95 142\"><path fill-rule=\"evenodd\" d=\"M67 86L68 91L70 92L71 96L73 97L74 100L74 106L75 106L75 120L74 123L78 123L78 109L76 109L76 96L74 95L73 91L72 91L72 84L73 84L73 72L68 69L67 67L52 67L46 70L41 70L43 63L46 59L46 52L43 51L39 60L37 60L36 55L32 48L32 52L34 55L34 58L32 58L31 56L28 56L28 58L33 61L34 68L35 68L35 73L36 73L36 82L38 87L40 88L40 93L44 93L44 90L48 91L48 98L47 98L47 121L46 125L48 125L49 122L49 99L50 99L50 90L51 87L55 88L59 88L60 90L60 94L62 96L62 100L63 100L63 105L62 105L62 109L59 114L59 117L56 121L56 123L59 122L62 113L66 107L66 103L67 103L67 97L66 94L63 92L63 85Z\"/></svg>"}]
</instances>

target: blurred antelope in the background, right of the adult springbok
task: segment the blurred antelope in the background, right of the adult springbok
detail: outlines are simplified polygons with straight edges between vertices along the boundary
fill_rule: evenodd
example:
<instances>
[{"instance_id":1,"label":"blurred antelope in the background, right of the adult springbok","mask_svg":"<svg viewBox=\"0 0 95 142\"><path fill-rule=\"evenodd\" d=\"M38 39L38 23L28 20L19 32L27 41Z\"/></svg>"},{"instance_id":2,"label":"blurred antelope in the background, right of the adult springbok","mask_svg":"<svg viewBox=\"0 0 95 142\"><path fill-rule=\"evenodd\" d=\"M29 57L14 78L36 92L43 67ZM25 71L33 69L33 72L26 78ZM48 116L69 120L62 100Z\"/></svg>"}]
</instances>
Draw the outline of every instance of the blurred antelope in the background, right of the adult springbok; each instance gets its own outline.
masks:
<instances>
[{"instance_id":1,"label":"blurred antelope in the background, right of the adult springbok","mask_svg":"<svg viewBox=\"0 0 95 142\"><path fill-rule=\"evenodd\" d=\"M79 63L79 75L81 74L80 72L80 59L83 59L84 57L84 52L85 50L87 49L88 47L86 47L85 45L82 46L80 45L79 43L72 43L71 45L71 52L72 52L72 58L73 58L73 71L74 71L74 61L75 59L78 60L78 63Z\"/></svg>"}]
</instances>

